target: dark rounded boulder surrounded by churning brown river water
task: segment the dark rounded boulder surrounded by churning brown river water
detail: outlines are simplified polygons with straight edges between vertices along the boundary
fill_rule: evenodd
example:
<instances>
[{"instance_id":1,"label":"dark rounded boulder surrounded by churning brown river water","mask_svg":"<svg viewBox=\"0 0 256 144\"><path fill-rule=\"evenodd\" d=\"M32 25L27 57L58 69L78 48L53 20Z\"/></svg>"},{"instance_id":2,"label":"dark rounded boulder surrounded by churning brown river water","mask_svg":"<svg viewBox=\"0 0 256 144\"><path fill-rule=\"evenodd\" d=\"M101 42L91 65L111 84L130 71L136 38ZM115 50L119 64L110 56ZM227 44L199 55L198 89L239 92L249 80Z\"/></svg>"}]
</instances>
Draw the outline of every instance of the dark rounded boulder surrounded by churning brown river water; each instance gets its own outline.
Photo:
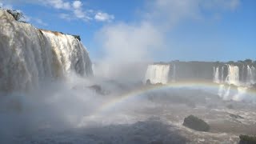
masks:
<instances>
[{"instance_id":1,"label":"dark rounded boulder surrounded by churning brown river water","mask_svg":"<svg viewBox=\"0 0 256 144\"><path fill-rule=\"evenodd\" d=\"M183 126L186 126L193 130L198 131L209 131L210 126L204 122L202 119L195 117L194 115L190 115L184 119Z\"/></svg>"}]
</instances>

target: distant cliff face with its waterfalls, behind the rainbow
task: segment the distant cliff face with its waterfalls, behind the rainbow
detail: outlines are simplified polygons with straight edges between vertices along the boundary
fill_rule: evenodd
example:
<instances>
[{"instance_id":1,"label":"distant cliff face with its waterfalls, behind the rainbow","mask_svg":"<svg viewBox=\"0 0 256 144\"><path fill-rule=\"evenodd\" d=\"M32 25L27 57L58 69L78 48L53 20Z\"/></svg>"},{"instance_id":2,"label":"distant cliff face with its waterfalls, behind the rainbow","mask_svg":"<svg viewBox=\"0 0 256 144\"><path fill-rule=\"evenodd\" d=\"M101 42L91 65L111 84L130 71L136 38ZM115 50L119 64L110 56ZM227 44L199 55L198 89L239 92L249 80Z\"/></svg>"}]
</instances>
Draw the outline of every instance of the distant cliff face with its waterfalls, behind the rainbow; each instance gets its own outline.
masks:
<instances>
[{"instance_id":1,"label":"distant cliff face with its waterfalls, behind the rainbow","mask_svg":"<svg viewBox=\"0 0 256 144\"><path fill-rule=\"evenodd\" d=\"M165 66L166 70L162 70L162 66ZM145 82L147 79L153 80L154 83L195 80L251 86L256 83L256 70L255 62L248 62L248 60L239 62L158 62L148 66Z\"/></svg>"}]
</instances>

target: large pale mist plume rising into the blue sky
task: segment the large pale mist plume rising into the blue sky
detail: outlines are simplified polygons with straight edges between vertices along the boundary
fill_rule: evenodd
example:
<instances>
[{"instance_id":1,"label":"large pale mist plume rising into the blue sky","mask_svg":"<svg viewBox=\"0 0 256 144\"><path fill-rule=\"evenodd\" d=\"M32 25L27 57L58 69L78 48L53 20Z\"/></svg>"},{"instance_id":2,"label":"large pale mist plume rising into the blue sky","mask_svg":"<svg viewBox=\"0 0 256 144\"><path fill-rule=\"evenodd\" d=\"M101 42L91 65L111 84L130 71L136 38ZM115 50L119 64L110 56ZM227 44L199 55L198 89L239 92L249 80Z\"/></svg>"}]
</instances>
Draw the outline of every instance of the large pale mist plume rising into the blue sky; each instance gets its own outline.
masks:
<instances>
[{"instance_id":1,"label":"large pale mist plume rising into the blue sky","mask_svg":"<svg viewBox=\"0 0 256 144\"><path fill-rule=\"evenodd\" d=\"M115 75L119 70L118 63L123 66L124 63L152 62L154 55L174 48L170 45L168 34L175 26L190 19L204 19L203 10L215 16L216 11L234 10L238 4L238 0L146 1L140 21L114 22L98 30L95 39L103 51L103 57L98 62L102 62L102 69L109 71L108 74ZM123 70L120 74L126 77Z\"/></svg>"}]
</instances>

